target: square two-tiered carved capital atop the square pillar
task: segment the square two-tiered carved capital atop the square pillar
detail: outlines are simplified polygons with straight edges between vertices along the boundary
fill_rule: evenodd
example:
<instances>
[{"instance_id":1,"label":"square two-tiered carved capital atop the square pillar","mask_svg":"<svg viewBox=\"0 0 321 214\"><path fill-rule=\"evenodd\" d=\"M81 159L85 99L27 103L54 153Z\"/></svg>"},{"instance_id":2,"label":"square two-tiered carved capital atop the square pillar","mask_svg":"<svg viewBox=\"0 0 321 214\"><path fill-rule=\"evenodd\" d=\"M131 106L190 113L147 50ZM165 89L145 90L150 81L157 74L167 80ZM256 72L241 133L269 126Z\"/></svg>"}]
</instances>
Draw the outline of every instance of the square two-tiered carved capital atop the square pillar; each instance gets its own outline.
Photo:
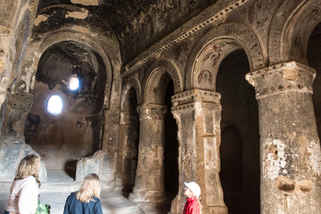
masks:
<instances>
[{"instance_id":1,"label":"square two-tiered carved capital atop the square pillar","mask_svg":"<svg viewBox=\"0 0 321 214\"><path fill-rule=\"evenodd\" d=\"M172 112L193 110L196 107L221 110L221 94L213 91L192 89L171 97Z\"/></svg>"}]
</instances>

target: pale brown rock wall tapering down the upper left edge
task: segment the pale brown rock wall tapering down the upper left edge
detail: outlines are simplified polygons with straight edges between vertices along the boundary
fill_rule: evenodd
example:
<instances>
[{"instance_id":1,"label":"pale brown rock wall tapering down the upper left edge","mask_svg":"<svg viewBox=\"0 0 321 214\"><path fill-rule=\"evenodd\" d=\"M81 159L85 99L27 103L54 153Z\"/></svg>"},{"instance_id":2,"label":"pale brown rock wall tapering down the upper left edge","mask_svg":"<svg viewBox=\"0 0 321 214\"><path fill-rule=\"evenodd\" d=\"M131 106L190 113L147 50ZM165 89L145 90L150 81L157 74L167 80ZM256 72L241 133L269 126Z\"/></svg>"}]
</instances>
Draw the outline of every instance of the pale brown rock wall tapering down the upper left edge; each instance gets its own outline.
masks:
<instances>
[{"instance_id":1,"label":"pale brown rock wall tapering down the upper left edge","mask_svg":"<svg viewBox=\"0 0 321 214\"><path fill-rule=\"evenodd\" d=\"M0 128L11 89L30 39L38 1L1 1L0 8Z\"/></svg>"}]
</instances>

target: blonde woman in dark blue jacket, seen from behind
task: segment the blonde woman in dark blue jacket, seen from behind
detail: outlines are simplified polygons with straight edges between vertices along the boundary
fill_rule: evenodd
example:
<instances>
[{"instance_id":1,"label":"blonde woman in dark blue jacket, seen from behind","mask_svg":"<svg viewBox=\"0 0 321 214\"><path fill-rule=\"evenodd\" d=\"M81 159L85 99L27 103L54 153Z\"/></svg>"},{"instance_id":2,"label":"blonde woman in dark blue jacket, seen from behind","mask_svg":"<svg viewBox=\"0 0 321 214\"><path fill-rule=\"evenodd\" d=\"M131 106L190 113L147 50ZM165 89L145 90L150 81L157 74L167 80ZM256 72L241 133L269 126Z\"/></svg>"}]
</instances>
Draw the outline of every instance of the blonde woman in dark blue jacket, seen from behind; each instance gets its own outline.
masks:
<instances>
[{"instance_id":1,"label":"blonde woman in dark blue jacket, seen from behind","mask_svg":"<svg viewBox=\"0 0 321 214\"><path fill-rule=\"evenodd\" d=\"M99 177L91 173L83 178L80 190L68 196L64 214L102 214L99 195Z\"/></svg>"}]
</instances>

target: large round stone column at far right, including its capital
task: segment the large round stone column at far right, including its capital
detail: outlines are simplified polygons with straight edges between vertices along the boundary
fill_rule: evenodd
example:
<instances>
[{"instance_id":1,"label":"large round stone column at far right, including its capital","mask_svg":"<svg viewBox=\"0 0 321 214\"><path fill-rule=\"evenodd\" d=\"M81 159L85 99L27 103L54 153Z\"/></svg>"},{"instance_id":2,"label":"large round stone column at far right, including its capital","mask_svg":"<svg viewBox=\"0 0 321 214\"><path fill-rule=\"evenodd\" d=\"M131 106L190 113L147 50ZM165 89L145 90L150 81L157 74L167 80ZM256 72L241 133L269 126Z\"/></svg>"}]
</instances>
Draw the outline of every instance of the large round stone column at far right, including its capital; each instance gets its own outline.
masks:
<instances>
[{"instance_id":1,"label":"large round stone column at far right, including its capital","mask_svg":"<svg viewBox=\"0 0 321 214\"><path fill-rule=\"evenodd\" d=\"M246 75L259 106L263 214L321 213L315 76L314 69L294 61Z\"/></svg>"}]
</instances>

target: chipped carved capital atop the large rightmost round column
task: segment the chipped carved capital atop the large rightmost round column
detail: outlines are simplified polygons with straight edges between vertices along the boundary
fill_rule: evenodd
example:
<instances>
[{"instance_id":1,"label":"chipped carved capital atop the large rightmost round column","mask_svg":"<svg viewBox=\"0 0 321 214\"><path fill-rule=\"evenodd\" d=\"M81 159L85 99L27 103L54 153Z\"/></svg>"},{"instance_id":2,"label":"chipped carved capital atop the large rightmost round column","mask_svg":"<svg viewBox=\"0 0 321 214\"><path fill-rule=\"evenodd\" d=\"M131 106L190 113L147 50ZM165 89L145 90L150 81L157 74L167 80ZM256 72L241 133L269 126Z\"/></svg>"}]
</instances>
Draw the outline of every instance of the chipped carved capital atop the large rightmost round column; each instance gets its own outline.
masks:
<instances>
[{"instance_id":1,"label":"chipped carved capital atop the large rightmost round column","mask_svg":"<svg viewBox=\"0 0 321 214\"><path fill-rule=\"evenodd\" d=\"M313 68L295 61L272 65L245 75L245 79L255 87L256 99L289 90L312 94L315 77L316 71Z\"/></svg>"}]
</instances>

